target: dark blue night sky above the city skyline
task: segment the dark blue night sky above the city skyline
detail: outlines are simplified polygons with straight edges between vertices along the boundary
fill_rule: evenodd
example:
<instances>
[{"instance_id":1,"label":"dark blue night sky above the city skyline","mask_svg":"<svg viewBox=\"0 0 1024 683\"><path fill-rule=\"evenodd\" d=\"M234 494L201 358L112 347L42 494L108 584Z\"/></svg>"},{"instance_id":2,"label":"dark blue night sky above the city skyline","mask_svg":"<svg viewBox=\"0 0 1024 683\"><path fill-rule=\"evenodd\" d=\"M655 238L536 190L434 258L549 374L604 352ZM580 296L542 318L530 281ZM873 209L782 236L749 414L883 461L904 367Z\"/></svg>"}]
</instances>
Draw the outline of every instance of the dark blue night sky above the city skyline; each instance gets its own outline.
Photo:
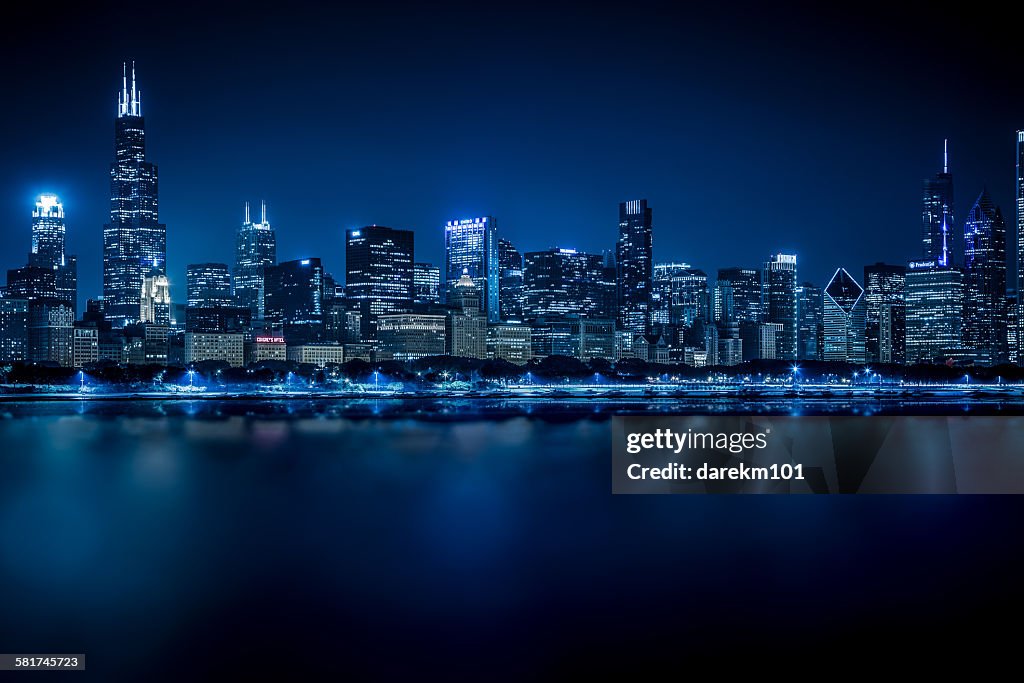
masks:
<instances>
[{"instance_id":1,"label":"dark blue night sky above the city skyline","mask_svg":"<svg viewBox=\"0 0 1024 683\"><path fill-rule=\"evenodd\" d=\"M957 231L987 185L1014 222L1020 41L994 14L860 5L300 3L7 16L0 268L23 265L55 191L82 301L101 293L121 62L160 168L174 296L233 258L268 203L281 260L344 274L344 230L489 214L520 251L600 252L647 198L655 261L706 269L795 251L801 280L919 256L922 180L950 139ZM125 7L124 3L119 3Z\"/></svg>"}]
</instances>

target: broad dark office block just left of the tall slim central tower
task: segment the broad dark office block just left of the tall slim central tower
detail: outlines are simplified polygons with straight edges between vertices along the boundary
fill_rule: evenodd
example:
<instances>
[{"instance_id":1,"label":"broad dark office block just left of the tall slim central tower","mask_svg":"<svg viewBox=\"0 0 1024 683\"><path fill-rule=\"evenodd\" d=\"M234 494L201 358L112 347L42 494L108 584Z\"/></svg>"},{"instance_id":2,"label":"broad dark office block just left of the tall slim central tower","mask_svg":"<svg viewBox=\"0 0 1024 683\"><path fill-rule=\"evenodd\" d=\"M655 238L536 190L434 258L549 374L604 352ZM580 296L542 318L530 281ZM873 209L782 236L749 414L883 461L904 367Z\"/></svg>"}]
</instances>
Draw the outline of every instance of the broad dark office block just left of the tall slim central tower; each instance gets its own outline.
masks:
<instances>
[{"instance_id":1,"label":"broad dark office block just left of the tall slim central tower","mask_svg":"<svg viewBox=\"0 0 1024 683\"><path fill-rule=\"evenodd\" d=\"M549 249L523 256L523 316L611 317L615 285L604 258L574 249Z\"/></svg>"}]
</instances>

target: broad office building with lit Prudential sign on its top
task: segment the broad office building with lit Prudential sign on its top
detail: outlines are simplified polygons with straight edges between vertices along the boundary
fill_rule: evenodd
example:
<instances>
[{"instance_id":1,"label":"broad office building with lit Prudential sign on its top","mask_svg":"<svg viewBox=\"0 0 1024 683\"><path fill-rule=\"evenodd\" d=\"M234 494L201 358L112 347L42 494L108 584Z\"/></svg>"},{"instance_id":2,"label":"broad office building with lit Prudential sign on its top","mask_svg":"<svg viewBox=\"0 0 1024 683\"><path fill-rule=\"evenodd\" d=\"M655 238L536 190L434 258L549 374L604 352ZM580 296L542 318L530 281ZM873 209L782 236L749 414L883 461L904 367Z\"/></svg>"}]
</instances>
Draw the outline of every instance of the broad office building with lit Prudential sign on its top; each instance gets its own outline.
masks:
<instances>
[{"instance_id":1,"label":"broad office building with lit Prudential sign on its top","mask_svg":"<svg viewBox=\"0 0 1024 683\"><path fill-rule=\"evenodd\" d=\"M964 272L935 261L911 261L906 270L906 361L945 362L962 348Z\"/></svg>"}]
</instances>

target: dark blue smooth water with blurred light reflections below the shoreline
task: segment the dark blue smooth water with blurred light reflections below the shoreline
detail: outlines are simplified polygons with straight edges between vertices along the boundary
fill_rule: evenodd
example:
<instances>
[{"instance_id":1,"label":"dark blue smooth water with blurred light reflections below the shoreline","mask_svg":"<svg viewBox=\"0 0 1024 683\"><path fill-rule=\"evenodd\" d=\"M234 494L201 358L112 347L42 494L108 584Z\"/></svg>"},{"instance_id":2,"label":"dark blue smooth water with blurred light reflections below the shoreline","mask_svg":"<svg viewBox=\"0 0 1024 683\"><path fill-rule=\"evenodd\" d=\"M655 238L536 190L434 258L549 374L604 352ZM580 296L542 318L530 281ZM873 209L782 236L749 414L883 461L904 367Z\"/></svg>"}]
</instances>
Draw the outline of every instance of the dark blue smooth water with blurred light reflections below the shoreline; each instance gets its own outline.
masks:
<instances>
[{"instance_id":1,"label":"dark blue smooth water with blurred light reflections below the shoreline","mask_svg":"<svg viewBox=\"0 0 1024 683\"><path fill-rule=\"evenodd\" d=\"M1017 651L1024 499L612 497L609 415L651 404L0 404L0 652L479 681Z\"/></svg>"}]
</instances>

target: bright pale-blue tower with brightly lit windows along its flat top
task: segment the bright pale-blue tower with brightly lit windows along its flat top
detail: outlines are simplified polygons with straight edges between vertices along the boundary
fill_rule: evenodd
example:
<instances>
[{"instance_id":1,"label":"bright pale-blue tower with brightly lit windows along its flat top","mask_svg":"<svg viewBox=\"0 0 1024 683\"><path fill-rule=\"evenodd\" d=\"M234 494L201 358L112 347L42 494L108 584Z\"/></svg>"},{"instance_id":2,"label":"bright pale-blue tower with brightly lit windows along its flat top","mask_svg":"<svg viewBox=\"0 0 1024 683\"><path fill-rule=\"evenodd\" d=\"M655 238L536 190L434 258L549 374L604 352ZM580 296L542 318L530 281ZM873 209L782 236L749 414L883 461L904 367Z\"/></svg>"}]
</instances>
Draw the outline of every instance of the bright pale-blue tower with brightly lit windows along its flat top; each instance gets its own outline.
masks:
<instances>
[{"instance_id":1,"label":"bright pale-blue tower with brightly lit windows along its flat top","mask_svg":"<svg viewBox=\"0 0 1024 683\"><path fill-rule=\"evenodd\" d=\"M494 216L450 220L444 226L444 282L451 288L469 272L483 293L488 323L501 313L498 262L498 222Z\"/></svg>"}]
</instances>

